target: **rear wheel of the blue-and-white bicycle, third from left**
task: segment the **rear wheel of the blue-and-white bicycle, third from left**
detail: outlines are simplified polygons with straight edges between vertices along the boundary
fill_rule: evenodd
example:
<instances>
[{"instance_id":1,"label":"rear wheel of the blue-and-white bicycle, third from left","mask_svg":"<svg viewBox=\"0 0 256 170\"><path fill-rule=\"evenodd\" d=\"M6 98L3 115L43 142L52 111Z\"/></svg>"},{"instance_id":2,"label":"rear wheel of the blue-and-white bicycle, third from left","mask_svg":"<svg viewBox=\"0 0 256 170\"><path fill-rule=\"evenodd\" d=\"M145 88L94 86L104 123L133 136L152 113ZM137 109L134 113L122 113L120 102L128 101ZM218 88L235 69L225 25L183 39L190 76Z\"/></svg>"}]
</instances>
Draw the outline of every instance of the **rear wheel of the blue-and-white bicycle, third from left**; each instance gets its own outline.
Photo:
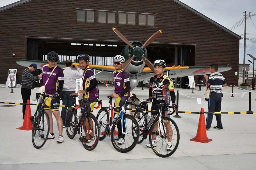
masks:
<instances>
[{"instance_id":1,"label":"rear wheel of the blue-and-white bicycle, third from left","mask_svg":"<svg viewBox=\"0 0 256 170\"><path fill-rule=\"evenodd\" d=\"M106 108L101 108L96 117L97 121L99 122L99 140L103 140L106 138L105 130L108 126L109 120L109 113Z\"/></svg>"}]
</instances>

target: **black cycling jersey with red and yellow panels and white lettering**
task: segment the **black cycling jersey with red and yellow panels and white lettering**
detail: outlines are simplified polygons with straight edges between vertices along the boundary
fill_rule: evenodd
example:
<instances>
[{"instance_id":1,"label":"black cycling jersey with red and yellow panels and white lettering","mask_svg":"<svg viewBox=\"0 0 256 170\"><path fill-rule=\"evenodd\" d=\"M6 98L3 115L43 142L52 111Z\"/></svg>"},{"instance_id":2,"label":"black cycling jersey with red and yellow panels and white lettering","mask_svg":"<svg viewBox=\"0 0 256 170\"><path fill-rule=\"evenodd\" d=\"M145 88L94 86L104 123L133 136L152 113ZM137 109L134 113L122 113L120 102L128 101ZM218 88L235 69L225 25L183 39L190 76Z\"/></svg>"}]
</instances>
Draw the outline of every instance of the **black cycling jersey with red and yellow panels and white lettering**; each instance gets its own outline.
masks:
<instances>
[{"instance_id":1,"label":"black cycling jersey with red and yellow panels and white lettering","mask_svg":"<svg viewBox=\"0 0 256 170\"><path fill-rule=\"evenodd\" d=\"M165 78L165 79L164 79ZM163 83L161 84L161 82ZM159 85L161 86L159 87ZM170 97L171 94L171 97ZM153 103L175 103L175 93L173 81L170 77L163 75L162 77L157 78L157 75L154 75L150 78L150 89L149 96L152 97Z\"/></svg>"}]
</instances>

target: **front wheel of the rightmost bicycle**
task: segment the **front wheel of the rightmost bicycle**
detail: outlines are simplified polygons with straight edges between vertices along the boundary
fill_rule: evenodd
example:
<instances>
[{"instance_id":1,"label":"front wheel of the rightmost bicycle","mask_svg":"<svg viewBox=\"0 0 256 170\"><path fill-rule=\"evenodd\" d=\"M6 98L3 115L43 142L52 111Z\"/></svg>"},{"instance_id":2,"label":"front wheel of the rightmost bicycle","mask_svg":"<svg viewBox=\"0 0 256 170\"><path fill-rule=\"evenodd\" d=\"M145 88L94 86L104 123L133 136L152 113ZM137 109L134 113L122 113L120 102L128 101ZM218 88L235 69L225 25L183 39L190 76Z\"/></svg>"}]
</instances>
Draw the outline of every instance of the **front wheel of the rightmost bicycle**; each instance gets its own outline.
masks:
<instances>
[{"instance_id":1,"label":"front wheel of the rightmost bicycle","mask_svg":"<svg viewBox=\"0 0 256 170\"><path fill-rule=\"evenodd\" d=\"M160 130L160 126L163 131ZM156 140L154 145L156 146L152 147L152 139L154 137ZM170 146L168 146L168 140L171 143ZM163 117L163 121L160 123L159 119L156 119L150 128L149 141L152 150L157 156L171 156L178 148L180 141L180 133L177 124L169 117Z\"/></svg>"}]
</instances>

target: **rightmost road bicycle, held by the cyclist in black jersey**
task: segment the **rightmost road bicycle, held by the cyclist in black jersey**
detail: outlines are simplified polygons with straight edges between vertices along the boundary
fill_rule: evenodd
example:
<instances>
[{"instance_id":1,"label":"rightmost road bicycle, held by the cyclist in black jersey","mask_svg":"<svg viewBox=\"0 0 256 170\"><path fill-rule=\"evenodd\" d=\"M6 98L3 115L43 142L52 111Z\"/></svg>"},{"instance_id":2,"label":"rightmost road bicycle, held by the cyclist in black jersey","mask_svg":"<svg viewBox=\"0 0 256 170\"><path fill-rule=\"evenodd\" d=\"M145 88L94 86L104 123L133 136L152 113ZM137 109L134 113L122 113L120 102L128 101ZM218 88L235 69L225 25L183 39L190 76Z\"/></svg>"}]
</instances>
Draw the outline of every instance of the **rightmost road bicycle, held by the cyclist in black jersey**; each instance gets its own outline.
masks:
<instances>
[{"instance_id":1,"label":"rightmost road bicycle, held by the cyclist in black jersey","mask_svg":"<svg viewBox=\"0 0 256 170\"><path fill-rule=\"evenodd\" d=\"M142 141L147 139L147 136L149 135L150 146L154 153L160 157L169 157L177 150L180 134L177 124L171 118L164 117L162 112L167 111L168 108L172 108L173 111L168 113L168 115L172 115L175 110L172 106L169 106L166 103L156 105L157 110L148 111L147 102L142 101L139 107L135 110L134 117L138 120L140 127L138 143L142 143ZM144 109L146 110L145 112ZM150 112L157 113L155 120L154 117L152 117L150 121L147 120L147 115ZM156 136L156 144L154 143L155 147L152 147L152 139L154 136ZM167 148L168 141L172 143L171 150L169 149L170 147Z\"/></svg>"}]
</instances>

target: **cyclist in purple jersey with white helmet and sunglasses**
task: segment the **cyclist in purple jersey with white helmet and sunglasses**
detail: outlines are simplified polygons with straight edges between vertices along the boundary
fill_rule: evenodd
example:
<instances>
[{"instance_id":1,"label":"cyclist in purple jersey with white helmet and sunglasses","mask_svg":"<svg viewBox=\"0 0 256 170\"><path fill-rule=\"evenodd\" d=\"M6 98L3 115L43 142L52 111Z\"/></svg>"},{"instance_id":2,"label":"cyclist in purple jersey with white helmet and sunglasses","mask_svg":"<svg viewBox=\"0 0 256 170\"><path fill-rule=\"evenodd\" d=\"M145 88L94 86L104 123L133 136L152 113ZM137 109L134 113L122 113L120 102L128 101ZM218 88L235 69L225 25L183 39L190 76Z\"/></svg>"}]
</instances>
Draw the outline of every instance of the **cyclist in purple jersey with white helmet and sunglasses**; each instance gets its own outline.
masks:
<instances>
[{"instance_id":1,"label":"cyclist in purple jersey with white helmet and sunglasses","mask_svg":"<svg viewBox=\"0 0 256 170\"><path fill-rule=\"evenodd\" d=\"M116 55L114 57L114 66L116 70L113 72L113 82L115 84L115 90L114 90L114 93L111 94L112 98L116 98L114 107L121 106L122 103L120 101L128 100L128 98L130 97L130 90L131 90L130 78L127 72L123 70L124 61L125 60L122 55ZM114 114L119 114L119 109L114 109ZM122 145L125 141L124 140L125 135L122 134L121 121L118 122L117 129L118 129L118 135L114 136L114 139L118 140L116 143ZM124 132L125 132L125 128L124 128Z\"/></svg>"}]
</instances>

